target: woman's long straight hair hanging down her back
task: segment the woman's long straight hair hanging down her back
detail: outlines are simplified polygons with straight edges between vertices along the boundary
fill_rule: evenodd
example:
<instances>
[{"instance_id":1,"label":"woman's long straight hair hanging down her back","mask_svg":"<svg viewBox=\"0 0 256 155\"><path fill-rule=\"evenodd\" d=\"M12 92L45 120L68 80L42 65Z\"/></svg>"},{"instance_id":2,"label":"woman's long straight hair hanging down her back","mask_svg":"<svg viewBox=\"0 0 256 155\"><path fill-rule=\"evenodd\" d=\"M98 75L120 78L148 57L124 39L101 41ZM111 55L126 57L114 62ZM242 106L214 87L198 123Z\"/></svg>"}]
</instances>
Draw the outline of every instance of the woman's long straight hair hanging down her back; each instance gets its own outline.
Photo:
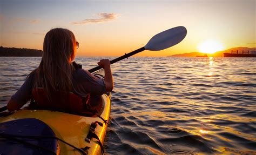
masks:
<instances>
[{"instance_id":1,"label":"woman's long straight hair hanging down her back","mask_svg":"<svg viewBox=\"0 0 256 155\"><path fill-rule=\"evenodd\" d=\"M75 51L76 39L70 30L56 28L46 33L41 63L31 72L35 73L33 88L43 87L49 99L51 92L70 92Z\"/></svg>"}]
</instances>

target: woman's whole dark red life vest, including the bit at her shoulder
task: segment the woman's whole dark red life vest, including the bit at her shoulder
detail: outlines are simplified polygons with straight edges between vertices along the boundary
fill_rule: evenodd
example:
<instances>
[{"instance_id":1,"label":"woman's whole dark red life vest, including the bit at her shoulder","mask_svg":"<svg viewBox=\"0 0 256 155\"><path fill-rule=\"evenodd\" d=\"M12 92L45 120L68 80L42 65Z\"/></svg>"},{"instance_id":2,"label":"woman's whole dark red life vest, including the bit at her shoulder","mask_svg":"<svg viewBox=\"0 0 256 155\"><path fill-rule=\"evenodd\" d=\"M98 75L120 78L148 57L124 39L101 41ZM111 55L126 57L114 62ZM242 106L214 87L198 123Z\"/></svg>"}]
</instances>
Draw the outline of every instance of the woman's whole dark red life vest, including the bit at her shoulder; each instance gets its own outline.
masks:
<instances>
[{"instance_id":1,"label":"woman's whole dark red life vest, including the bit at her shoulder","mask_svg":"<svg viewBox=\"0 0 256 155\"><path fill-rule=\"evenodd\" d=\"M77 69L82 69L82 65L72 62L72 65ZM74 93L52 92L52 98L46 96L43 88L32 90L33 99L31 99L29 109L41 109L61 111L82 116L98 116L97 113L103 110L103 100L100 96L79 97ZM102 118L101 118L102 119ZM105 121L105 120L104 120Z\"/></svg>"}]
</instances>

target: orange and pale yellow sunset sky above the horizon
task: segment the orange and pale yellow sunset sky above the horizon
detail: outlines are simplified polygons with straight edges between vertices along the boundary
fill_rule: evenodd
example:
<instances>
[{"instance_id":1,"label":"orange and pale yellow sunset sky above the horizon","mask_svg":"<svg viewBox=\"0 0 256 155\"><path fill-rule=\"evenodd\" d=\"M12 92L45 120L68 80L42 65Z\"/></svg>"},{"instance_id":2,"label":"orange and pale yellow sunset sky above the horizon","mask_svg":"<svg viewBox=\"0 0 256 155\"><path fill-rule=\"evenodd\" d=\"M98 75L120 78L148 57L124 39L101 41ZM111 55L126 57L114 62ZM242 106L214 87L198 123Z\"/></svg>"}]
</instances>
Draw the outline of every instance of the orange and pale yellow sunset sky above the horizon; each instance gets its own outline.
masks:
<instances>
[{"instance_id":1,"label":"orange and pale yellow sunset sky above the horizon","mask_svg":"<svg viewBox=\"0 0 256 155\"><path fill-rule=\"evenodd\" d=\"M187 29L182 42L136 56L170 56L204 45L210 51L209 42L223 49L256 47L256 0L0 0L0 22L1 46L42 50L49 30L66 28L79 42L77 56L121 56L176 26Z\"/></svg>"}]
</instances>

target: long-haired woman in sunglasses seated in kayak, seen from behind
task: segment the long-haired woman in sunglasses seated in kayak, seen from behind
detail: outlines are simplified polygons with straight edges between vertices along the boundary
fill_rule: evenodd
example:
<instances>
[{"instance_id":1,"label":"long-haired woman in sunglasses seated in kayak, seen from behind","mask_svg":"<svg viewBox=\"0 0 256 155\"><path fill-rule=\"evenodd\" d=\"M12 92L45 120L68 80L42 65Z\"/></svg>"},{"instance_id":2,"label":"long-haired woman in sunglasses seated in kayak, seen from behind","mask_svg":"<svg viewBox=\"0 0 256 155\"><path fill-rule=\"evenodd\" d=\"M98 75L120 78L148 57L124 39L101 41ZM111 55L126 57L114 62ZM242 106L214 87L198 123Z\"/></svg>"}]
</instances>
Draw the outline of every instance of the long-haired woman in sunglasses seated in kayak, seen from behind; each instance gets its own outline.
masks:
<instances>
[{"instance_id":1,"label":"long-haired woman in sunglasses seated in kayak, seen from behind","mask_svg":"<svg viewBox=\"0 0 256 155\"><path fill-rule=\"evenodd\" d=\"M102 59L98 62L105 71L104 80L83 69L76 69L71 62L78 46L75 36L68 29L56 28L46 33L41 63L11 97L8 110L18 110L35 98L39 109L69 111L69 107L74 107L70 109L74 112L83 109L81 104L85 102L82 100L89 94L100 96L112 91L110 61Z\"/></svg>"}]
</instances>

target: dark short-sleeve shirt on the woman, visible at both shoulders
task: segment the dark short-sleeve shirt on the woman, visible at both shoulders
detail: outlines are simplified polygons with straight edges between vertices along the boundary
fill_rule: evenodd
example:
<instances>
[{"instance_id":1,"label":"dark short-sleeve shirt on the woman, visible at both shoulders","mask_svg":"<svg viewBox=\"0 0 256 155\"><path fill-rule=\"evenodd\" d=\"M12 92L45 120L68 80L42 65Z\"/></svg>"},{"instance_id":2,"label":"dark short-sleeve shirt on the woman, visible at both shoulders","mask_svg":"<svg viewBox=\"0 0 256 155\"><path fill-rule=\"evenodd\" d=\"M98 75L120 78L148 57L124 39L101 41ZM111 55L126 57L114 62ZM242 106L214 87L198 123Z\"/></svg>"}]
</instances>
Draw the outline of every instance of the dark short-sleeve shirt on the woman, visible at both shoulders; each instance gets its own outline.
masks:
<instances>
[{"instance_id":1,"label":"dark short-sleeve shirt on the woman, visible at both shoulders","mask_svg":"<svg viewBox=\"0 0 256 155\"><path fill-rule=\"evenodd\" d=\"M29 76L19 90L11 97L18 103L26 104L32 97L33 81L35 76ZM103 95L106 91L106 84L103 79L93 76L90 72L78 69L72 74L72 90L80 97L91 95Z\"/></svg>"}]
</instances>

